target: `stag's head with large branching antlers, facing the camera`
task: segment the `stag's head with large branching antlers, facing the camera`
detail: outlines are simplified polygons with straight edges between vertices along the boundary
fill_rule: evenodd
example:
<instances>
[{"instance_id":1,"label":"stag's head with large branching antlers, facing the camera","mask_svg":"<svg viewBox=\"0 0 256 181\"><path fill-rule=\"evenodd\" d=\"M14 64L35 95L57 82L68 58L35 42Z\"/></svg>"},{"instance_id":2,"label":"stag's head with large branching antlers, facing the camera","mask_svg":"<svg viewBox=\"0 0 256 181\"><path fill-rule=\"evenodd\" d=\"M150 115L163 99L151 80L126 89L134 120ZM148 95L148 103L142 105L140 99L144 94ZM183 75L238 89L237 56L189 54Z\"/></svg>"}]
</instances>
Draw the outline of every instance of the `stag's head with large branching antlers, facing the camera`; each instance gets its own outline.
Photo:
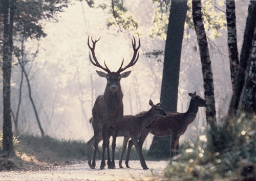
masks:
<instances>
[{"instance_id":1,"label":"stag's head with large branching antlers, facing the camera","mask_svg":"<svg viewBox=\"0 0 256 181\"><path fill-rule=\"evenodd\" d=\"M138 61L138 59L139 59L139 51L138 50L140 48L140 38L139 38L139 45L136 48L136 41L135 41L135 38L133 36L133 38L132 38L132 45L133 45L133 50L134 50L133 58L130 61L130 63L128 65L126 65L125 67L122 67L123 66L123 60L122 60L121 66L119 67L119 69L116 72L110 71L108 66L106 66L105 61L104 61L104 67L99 64L99 62L98 62L98 60L97 60L97 58L95 56L95 52L94 52L96 42L99 41L99 39L95 39L95 41L94 41L93 38L91 38L93 46L90 46L89 36L88 36L88 46L89 46L89 48L91 50L89 58L90 58L90 61L92 62L92 64L94 66L99 67L99 68L101 68L102 70L105 71L105 72L102 72L102 71L96 70L96 72L98 73L99 76L105 77L106 80L108 81L107 88L109 88L110 91L115 92L115 91L117 91L120 88L120 80L122 78L124 78L124 77L129 76L130 73L131 73L131 70L123 72L123 73L121 73L121 72L124 71L125 69L133 66ZM92 53L94 61L91 58L91 53Z\"/></svg>"}]
</instances>

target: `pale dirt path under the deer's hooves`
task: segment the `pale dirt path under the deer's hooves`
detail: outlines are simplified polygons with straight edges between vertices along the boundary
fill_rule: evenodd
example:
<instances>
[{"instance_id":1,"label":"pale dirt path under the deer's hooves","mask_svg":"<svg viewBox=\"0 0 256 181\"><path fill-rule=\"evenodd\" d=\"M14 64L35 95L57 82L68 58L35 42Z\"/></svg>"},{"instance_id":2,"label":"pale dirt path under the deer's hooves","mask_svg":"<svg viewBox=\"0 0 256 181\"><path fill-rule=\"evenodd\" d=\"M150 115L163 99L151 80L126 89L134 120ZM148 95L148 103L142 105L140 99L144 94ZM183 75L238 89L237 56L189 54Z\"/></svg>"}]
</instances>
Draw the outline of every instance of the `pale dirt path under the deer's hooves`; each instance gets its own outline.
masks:
<instances>
[{"instance_id":1,"label":"pale dirt path under the deer's hooves","mask_svg":"<svg viewBox=\"0 0 256 181\"><path fill-rule=\"evenodd\" d=\"M116 161L115 170L100 170L100 161L96 162L96 169L90 169L87 163L67 166L56 166L45 171L10 171L0 172L0 180L138 180L153 173L163 173L167 161L146 161L150 170L143 170L139 161L130 161L131 168L119 169ZM124 163L123 163L123 166Z\"/></svg>"}]
</instances>

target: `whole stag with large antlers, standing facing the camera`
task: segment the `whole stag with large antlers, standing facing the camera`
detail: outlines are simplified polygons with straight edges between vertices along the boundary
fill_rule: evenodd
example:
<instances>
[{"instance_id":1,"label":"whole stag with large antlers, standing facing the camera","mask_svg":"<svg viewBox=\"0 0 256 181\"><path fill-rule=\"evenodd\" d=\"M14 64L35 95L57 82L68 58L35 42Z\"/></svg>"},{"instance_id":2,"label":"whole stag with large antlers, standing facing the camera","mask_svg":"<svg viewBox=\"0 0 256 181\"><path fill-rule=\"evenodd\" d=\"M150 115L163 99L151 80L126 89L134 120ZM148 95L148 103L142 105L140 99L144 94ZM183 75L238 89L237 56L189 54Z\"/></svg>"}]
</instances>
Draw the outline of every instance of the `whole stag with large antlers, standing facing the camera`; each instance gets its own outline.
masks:
<instances>
[{"instance_id":1,"label":"whole stag with large antlers, standing facing the camera","mask_svg":"<svg viewBox=\"0 0 256 181\"><path fill-rule=\"evenodd\" d=\"M94 160L93 164L90 166L91 168L95 168L95 157L96 157L96 150L98 150L98 139L100 138L100 135L102 134L103 138L103 144L102 144L102 160L100 164L100 169L104 169L105 166L105 148L107 148L108 151L108 157L109 157L109 143L110 143L110 137L112 136L112 161L108 159L108 165L109 168L115 169L115 148L116 148L116 137L118 132L118 121L122 120L123 118L123 93L121 90L120 80L121 78L127 77L130 75L131 70L121 73L125 69L133 66L139 58L139 48L140 48L140 38L139 38L139 45L136 48L136 41L133 37L132 39L132 45L133 45L133 58L130 61L129 64L127 64L125 67L122 68L123 61L121 63L120 68L116 72L110 71L110 69L106 66L105 61L104 65L105 67L101 66L95 56L95 44L99 39L93 39L91 38L93 45L90 46L89 43L89 37L88 37L88 46L91 50L94 62L91 58L90 53L90 61L92 64L96 67L101 68L106 73L96 70L99 76L105 77L107 80L106 88L103 95L99 95L94 103L92 115L94 119L94 123L96 126L94 126L94 135L95 135L95 143L94 143ZM110 158L110 157L109 157ZM90 164L89 164L90 165Z\"/></svg>"}]
</instances>

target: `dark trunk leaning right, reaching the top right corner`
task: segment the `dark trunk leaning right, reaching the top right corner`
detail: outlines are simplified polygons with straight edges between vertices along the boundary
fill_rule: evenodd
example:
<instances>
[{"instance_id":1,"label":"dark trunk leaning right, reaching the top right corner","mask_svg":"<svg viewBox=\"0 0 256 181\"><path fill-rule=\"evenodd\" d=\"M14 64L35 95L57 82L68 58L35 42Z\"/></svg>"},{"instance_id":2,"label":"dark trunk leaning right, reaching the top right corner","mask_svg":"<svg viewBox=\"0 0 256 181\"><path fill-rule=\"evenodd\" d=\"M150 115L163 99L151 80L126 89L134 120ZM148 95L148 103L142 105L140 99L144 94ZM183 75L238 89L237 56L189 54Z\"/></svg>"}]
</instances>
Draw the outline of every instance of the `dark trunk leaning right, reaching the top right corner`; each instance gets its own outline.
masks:
<instances>
[{"instance_id":1,"label":"dark trunk leaning right, reaching the top right corner","mask_svg":"<svg viewBox=\"0 0 256 181\"><path fill-rule=\"evenodd\" d=\"M228 111L228 114L230 117L236 116L237 114L241 93L245 83L245 72L247 68L248 59L250 56L253 31L254 31L254 26L256 21L255 6L256 6L256 2L250 1L249 7L248 7L248 17L246 20L246 27L244 31L244 41L243 41L243 46L242 46L241 55L240 55L240 63L239 63L236 87L234 89L230 106L229 106L229 111Z\"/></svg>"}]
</instances>

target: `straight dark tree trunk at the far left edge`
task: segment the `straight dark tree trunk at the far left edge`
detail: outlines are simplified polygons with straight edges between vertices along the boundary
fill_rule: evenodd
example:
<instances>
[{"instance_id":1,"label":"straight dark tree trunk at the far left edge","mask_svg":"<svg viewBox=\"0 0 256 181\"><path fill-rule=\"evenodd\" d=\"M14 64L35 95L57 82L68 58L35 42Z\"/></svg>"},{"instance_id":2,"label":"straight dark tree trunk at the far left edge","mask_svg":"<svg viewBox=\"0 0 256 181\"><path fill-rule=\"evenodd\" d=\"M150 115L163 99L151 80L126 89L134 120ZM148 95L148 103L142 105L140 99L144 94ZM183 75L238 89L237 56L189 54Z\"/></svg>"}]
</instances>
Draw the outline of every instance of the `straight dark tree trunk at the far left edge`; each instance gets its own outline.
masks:
<instances>
[{"instance_id":1,"label":"straight dark tree trunk at the far left edge","mask_svg":"<svg viewBox=\"0 0 256 181\"><path fill-rule=\"evenodd\" d=\"M8 155L13 152L12 121L11 121L11 69L12 69L12 32L14 16L14 0L2 1L4 14L3 44L3 151Z\"/></svg>"}]
</instances>

